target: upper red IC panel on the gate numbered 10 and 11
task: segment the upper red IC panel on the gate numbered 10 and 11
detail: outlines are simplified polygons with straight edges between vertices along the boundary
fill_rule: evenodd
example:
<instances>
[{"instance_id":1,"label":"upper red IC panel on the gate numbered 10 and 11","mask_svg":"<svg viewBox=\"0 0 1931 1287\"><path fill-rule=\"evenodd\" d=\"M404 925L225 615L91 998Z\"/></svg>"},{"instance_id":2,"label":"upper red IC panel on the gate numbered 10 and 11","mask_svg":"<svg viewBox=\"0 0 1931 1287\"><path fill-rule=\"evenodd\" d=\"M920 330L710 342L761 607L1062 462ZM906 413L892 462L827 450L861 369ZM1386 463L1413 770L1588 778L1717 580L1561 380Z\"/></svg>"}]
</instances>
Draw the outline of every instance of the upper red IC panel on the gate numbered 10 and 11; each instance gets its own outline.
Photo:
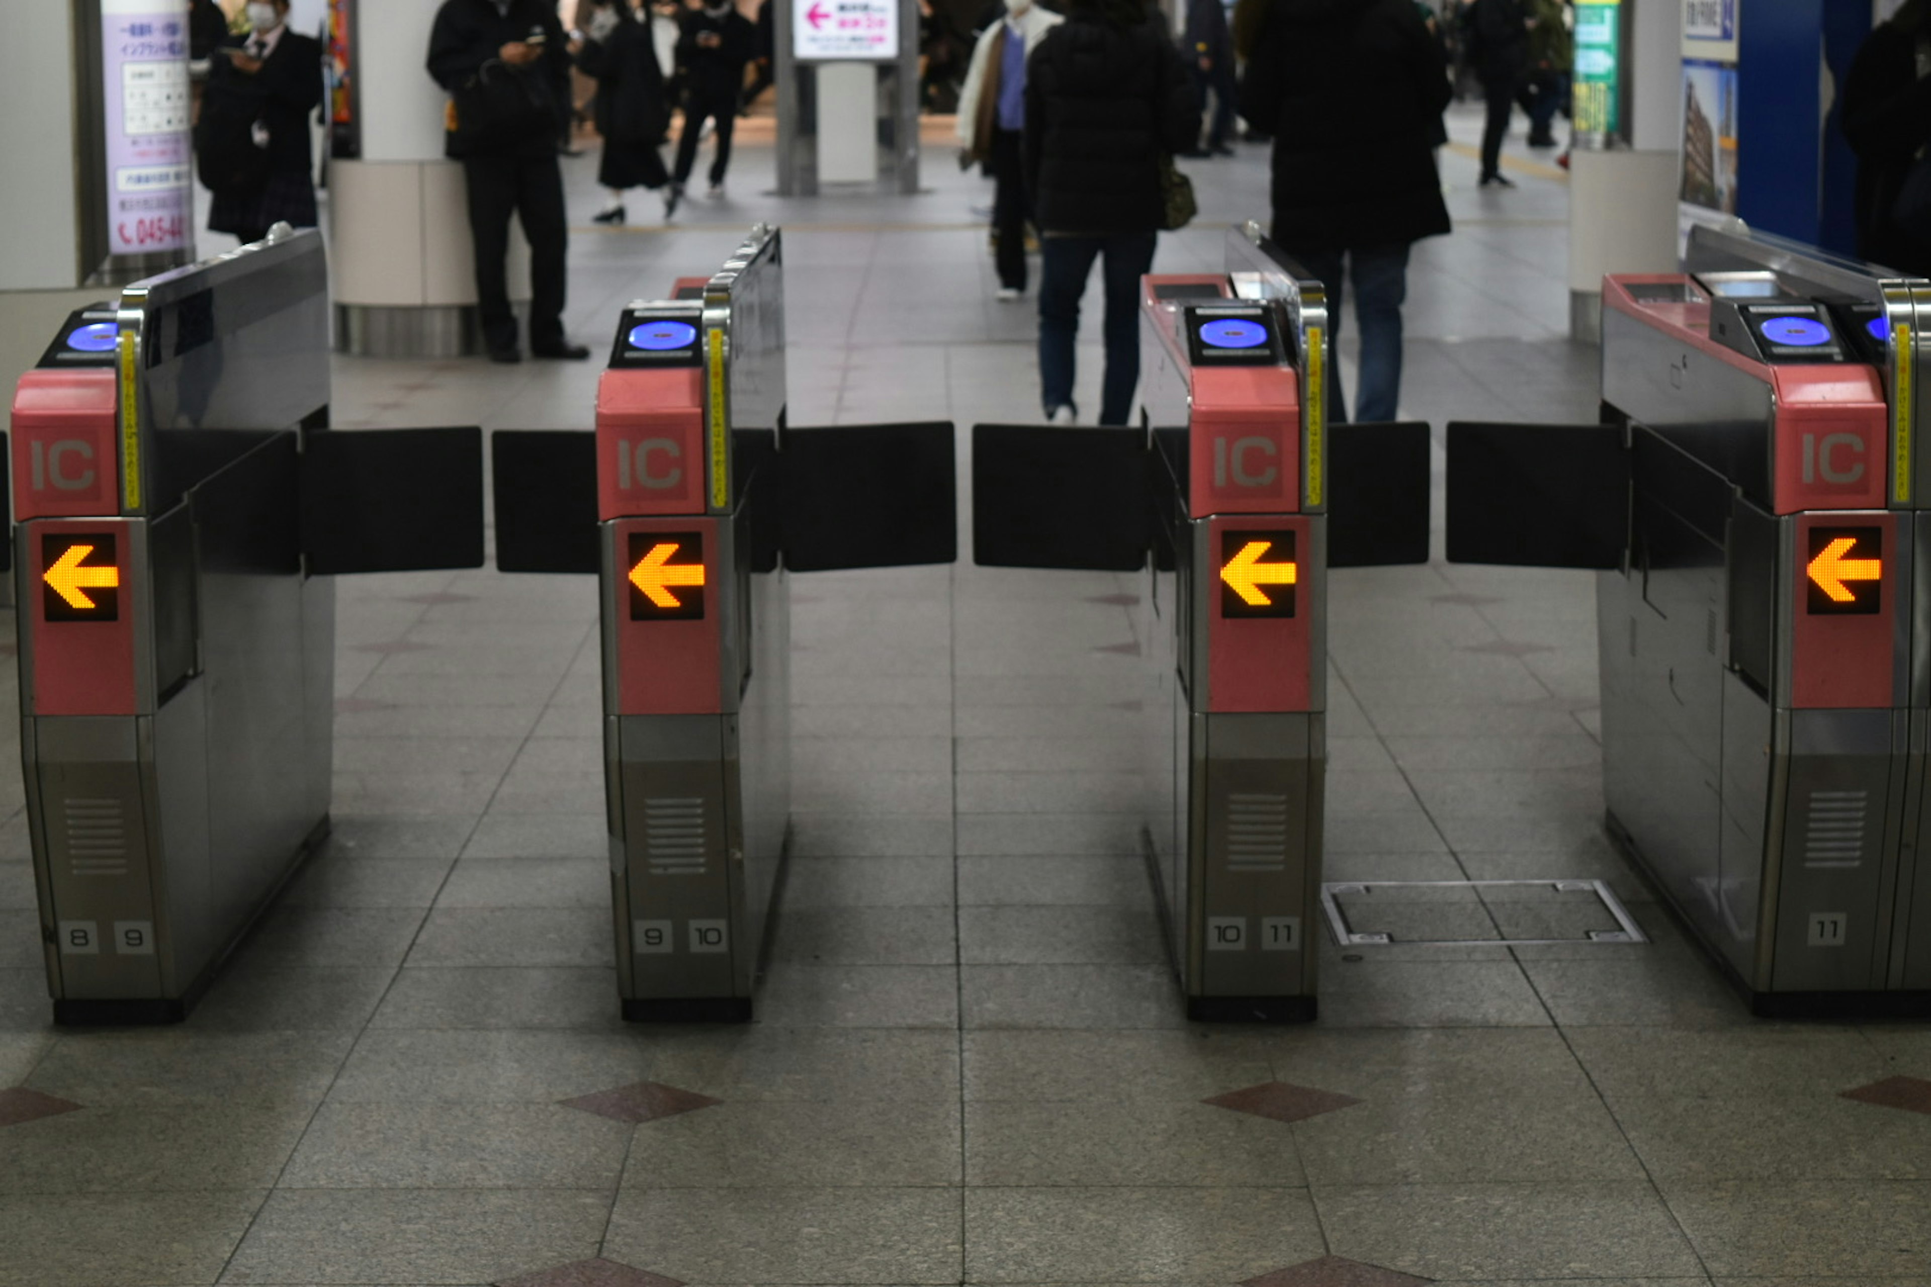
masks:
<instances>
[{"instance_id":1,"label":"upper red IC panel on the gate numbered 10 and 11","mask_svg":"<svg viewBox=\"0 0 1931 1287\"><path fill-rule=\"evenodd\" d=\"M1193 517L1301 507L1301 382L1294 370L1195 367L1189 436Z\"/></svg>"}]
</instances>

